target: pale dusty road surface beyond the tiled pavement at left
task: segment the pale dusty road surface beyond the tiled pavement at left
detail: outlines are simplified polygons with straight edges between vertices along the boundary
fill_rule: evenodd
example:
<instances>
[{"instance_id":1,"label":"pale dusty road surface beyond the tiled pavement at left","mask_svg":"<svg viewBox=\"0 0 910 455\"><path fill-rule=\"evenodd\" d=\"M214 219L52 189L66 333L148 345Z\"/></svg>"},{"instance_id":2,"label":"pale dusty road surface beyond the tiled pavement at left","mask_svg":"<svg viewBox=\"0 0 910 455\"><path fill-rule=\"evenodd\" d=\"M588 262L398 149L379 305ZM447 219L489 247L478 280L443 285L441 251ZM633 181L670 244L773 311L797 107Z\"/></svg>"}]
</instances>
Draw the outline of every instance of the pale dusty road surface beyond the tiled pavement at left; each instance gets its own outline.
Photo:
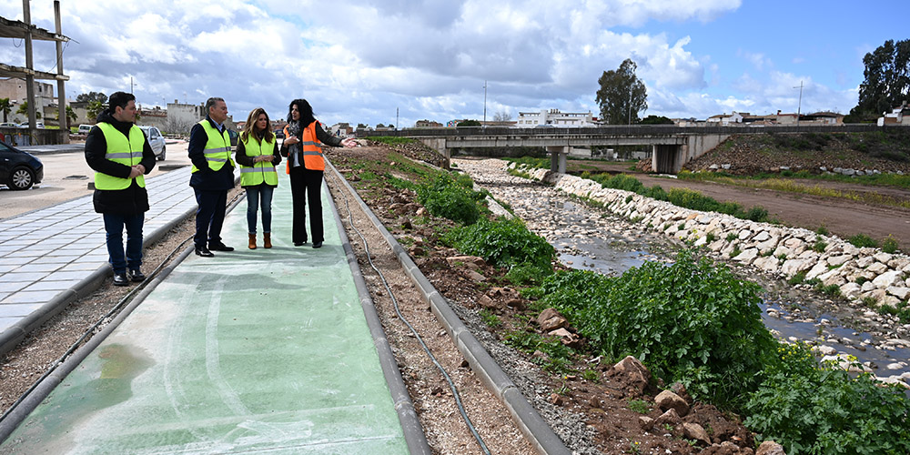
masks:
<instances>
[{"instance_id":1,"label":"pale dusty road surface beyond the tiled pavement at left","mask_svg":"<svg viewBox=\"0 0 910 455\"><path fill-rule=\"evenodd\" d=\"M187 142L167 143L167 159L157 161L147 177L154 177L168 168L189 166ZM94 181L95 172L86 164L82 150L67 152L30 152L45 166L42 182L25 191L13 191L0 186L0 219L15 217L38 208L92 194L88 184ZM187 185L189 182L187 182Z\"/></svg>"}]
</instances>

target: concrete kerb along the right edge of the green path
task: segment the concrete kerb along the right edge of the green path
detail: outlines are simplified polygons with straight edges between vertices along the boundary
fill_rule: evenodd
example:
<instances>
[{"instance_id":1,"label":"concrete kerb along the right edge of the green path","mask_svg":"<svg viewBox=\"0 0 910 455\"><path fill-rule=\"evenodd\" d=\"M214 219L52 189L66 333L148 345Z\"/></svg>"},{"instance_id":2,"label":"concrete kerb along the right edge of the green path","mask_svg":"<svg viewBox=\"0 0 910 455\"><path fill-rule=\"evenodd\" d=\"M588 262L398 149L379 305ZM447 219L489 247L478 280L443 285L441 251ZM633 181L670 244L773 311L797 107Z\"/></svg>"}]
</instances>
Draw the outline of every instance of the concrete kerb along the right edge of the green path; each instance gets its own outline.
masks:
<instances>
[{"instance_id":1,"label":"concrete kerb along the right edge of the green path","mask_svg":"<svg viewBox=\"0 0 910 455\"><path fill-rule=\"evenodd\" d=\"M325 186L325 183L323 183L323 186ZM326 191L328 191L328 188L326 188ZM399 416L405 443L408 445L408 450L412 455L430 455L430 453L432 453L430 442L427 440L427 435L423 430L423 427L420 426L420 418L417 415L417 410L414 409L414 402L411 401L408 387L405 386L404 379L401 378L398 360L395 359L395 355L392 353L392 349L389 346L389 339L386 338L385 330L382 329L382 322L379 319L379 314L376 312L376 306L373 304L373 299L369 297L367 282L360 272L357 255L354 254L354 249L350 246L350 239L345 232L338 207L336 207L332 197L329 197L329 205L332 207L332 211L335 214L335 222L338 225L341 246L344 248L345 256L348 258L348 266L351 274L354 276L354 286L357 288L357 293L360 296L360 307L363 308L363 314L367 319L369 333L373 337L373 345L376 347L376 353L379 356L379 366L382 368L382 374L386 379L386 383L389 385L389 393L391 394L392 402L395 405L395 411Z\"/></svg>"}]
</instances>

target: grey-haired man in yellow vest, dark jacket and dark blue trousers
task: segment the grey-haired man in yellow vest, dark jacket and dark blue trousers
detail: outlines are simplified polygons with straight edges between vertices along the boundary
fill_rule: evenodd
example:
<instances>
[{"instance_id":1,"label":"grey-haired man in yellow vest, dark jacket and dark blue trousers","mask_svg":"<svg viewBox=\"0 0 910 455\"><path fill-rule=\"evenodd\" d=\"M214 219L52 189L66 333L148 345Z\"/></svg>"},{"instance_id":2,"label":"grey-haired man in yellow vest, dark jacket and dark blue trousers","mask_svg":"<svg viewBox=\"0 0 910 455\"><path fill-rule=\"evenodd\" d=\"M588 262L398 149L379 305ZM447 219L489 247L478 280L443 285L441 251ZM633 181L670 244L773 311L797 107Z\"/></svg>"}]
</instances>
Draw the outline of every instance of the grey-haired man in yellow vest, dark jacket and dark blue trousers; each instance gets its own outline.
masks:
<instances>
[{"instance_id":1,"label":"grey-haired man in yellow vest, dark jacket and dark blue trousers","mask_svg":"<svg viewBox=\"0 0 910 455\"><path fill-rule=\"evenodd\" d=\"M196 191L196 254L203 258L215 251L234 251L221 241L227 211L227 191L234 187L234 160L227 134L227 104L222 98L206 101L208 115L189 132L187 154L193 162L189 186Z\"/></svg>"}]
</instances>

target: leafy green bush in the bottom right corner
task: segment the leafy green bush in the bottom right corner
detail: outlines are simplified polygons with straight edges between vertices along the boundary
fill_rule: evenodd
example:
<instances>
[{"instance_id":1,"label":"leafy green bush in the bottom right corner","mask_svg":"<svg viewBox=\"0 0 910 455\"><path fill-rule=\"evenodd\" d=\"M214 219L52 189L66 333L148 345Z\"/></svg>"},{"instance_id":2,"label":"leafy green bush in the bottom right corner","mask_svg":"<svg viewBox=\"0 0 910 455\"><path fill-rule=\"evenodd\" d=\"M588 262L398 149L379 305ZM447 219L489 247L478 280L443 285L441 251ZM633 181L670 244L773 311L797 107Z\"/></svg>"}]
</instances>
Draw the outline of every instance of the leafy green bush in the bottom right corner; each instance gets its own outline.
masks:
<instances>
[{"instance_id":1,"label":"leafy green bush in the bottom right corner","mask_svg":"<svg viewBox=\"0 0 910 455\"><path fill-rule=\"evenodd\" d=\"M787 453L910 453L910 400L900 387L818 367L804 345L778 353L744 407L759 440Z\"/></svg>"}]
</instances>

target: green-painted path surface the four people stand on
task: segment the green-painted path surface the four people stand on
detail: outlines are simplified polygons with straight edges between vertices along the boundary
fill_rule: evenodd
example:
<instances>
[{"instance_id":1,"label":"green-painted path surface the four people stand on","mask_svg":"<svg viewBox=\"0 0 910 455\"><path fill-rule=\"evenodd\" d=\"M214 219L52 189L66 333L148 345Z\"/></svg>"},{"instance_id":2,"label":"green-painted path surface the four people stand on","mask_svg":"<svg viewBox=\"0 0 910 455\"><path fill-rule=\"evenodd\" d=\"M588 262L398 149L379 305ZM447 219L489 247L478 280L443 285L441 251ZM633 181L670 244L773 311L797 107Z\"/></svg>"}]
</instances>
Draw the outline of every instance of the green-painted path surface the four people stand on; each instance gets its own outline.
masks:
<instances>
[{"instance_id":1,"label":"green-painted path surface the four people stand on","mask_svg":"<svg viewBox=\"0 0 910 455\"><path fill-rule=\"evenodd\" d=\"M408 453L329 195L323 247L295 248L280 178L273 248L241 200L237 249L177 266L0 452Z\"/></svg>"}]
</instances>

